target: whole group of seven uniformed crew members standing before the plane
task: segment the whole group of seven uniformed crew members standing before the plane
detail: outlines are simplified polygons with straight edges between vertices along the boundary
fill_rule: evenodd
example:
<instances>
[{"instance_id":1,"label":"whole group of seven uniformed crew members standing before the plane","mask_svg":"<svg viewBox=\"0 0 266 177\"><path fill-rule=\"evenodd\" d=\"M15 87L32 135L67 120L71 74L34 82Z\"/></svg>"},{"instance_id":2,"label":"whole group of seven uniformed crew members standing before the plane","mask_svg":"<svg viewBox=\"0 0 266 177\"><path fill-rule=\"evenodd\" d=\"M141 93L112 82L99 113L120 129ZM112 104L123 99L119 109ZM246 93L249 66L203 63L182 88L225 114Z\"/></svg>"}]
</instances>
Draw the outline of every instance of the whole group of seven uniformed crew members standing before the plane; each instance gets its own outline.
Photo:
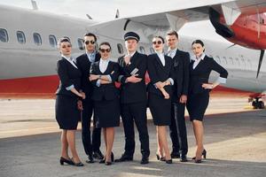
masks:
<instances>
[{"instance_id":1,"label":"whole group of seven uniformed crew members standing before the plane","mask_svg":"<svg viewBox=\"0 0 266 177\"><path fill-rule=\"evenodd\" d=\"M110 60L112 47L109 42L101 42L96 50L97 37L94 34L84 35L86 52L76 59L71 57L70 39L63 37L59 40L61 59L57 64L60 82L56 92L56 119L62 129L61 165L83 165L75 149L75 130L80 118L87 163L94 163L95 159L105 165L132 161L136 144L135 123L142 154L140 163L148 164L150 147L147 106L156 126L156 157L159 161L167 164L172 164L172 158L188 161L185 105L197 145L194 162L201 163L201 158L206 158L202 120L207 109L209 91L226 82L227 71L213 58L207 57L204 43L200 40L192 42L194 58L190 58L188 52L178 50L176 31L169 31L165 38L154 36L154 53L149 56L137 52L139 40L137 33L126 33L124 41L127 53L118 58L117 62ZM166 53L163 51L165 42L168 45ZM220 77L214 83L208 83L212 70L220 73ZM147 73L150 82L146 85ZM120 82L119 88L115 82ZM120 118L125 147L121 157L113 159L114 127L120 126ZM168 127L171 152L168 147ZM105 155L100 150L101 130L106 145ZM73 158L69 157L68 149Z\"/></svg>"}]
</instances>

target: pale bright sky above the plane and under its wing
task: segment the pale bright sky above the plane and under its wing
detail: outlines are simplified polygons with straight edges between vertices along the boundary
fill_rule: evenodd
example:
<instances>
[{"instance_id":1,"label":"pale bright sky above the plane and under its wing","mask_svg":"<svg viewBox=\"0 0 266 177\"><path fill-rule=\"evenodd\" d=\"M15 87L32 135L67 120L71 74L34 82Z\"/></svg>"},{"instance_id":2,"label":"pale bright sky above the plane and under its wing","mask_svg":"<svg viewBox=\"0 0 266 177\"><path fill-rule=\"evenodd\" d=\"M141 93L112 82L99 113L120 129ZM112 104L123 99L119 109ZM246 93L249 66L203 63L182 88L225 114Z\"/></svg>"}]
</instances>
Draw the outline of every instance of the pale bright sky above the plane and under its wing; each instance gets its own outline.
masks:
<instances>
[{"instance_id":1,"label":"pale bright sky above the plane and under its wing","mask_svg":"<svg viewBox=\"0 0 266 177\"><path fill-rule=\"evenodd\" d=\"M208 1L208 0L205 0ZM130 4L131 2L131 4ZM153 4L151 4L153 2ZM68 14L70 16L87 19L86 13L92 19L106 21L114 19L115 12L119 9L120 17L130 17L152 12L160 12L173 9L173 6L190 5L195 0L36 0L39 11L52 12L58 14ZM0 4L13 5L32 9L31 0L0 0ZM196 29L196 30L195 30ZM215 34L215 29L210 22L187 23L179 31L180 35L199 35L201 38L208 38L224 41L223 38Z\"/></svg>"}]
</instances>

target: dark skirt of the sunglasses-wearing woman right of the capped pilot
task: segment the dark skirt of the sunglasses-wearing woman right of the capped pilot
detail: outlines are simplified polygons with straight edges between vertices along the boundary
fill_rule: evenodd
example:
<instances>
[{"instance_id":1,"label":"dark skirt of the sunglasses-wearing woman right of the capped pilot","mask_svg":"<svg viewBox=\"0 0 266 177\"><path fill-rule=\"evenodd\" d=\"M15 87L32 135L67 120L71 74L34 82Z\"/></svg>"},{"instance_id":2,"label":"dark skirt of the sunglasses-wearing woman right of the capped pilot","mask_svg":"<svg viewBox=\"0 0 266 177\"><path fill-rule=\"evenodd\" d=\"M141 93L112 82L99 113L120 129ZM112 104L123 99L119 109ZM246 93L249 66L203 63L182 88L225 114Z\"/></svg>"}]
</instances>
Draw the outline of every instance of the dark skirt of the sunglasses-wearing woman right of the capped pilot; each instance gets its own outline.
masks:
<instances>
[{"instance_id":1,"label":"dark skirt of the sunglasses-wearing woman right of the capped pilot","mask_svg":"<svg viewBox=\"0 0 266 177\"><path fill-rule=\"evenodd\" d=\"M155 126L169 126L171 124L171 98L149 93L148 104Z\"/></svg>"}]
</instances>

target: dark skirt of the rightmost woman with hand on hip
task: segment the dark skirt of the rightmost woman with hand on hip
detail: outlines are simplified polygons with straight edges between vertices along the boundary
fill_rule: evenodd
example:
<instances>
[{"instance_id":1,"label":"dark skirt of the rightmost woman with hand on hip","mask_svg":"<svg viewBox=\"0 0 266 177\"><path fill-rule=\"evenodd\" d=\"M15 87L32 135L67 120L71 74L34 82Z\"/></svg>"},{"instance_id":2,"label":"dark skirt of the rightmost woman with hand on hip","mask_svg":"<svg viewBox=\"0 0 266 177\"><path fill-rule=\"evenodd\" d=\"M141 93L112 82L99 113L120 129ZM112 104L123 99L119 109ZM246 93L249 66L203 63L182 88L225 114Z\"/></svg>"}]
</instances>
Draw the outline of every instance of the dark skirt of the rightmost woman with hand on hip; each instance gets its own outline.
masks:
<instances>
[{"instance_id":1,"label":"dark skirt of the rightmost woman with hand on hip","mask_svg":"<svg viewBox=\"0 0 266 177\"><path fill-rule=\"evenodd\" d=\"M189 112L191 121L194 119L203 120L204 113L207 110L209 102L209 93L203 92L200 94L189 94L186 108Z\"/></svg>"}]
</instances>

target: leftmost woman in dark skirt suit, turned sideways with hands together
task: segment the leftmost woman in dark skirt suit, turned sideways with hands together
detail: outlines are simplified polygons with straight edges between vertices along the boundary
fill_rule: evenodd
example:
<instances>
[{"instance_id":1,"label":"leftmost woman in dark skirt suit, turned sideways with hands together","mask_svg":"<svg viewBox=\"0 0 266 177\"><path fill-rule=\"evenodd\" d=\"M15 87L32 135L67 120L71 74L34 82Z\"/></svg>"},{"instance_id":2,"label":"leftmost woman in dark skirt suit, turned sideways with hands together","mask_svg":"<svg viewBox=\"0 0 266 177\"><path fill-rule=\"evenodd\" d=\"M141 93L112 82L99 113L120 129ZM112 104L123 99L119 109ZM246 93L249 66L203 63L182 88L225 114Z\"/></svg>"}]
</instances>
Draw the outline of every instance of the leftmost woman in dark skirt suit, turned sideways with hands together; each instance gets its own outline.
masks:
<instances>
[{"instance_id":1,"label":"leftmost woman in dark skirt suit, turned sideways with hands together","mask_svg":"<svg viewBox=\"0 0 266 177\"><path fill-rule=\"evenodd\" d=\"M59 40L61 59L57 64L59 74L59 89L56 91L56 119L59 127L63 129L61 134L61 158L60 164L82 166L82 162L75 150L75 130L77 128L80 111L77 109L79 97L85 98L85 94L79 92L82 73L71 58L71 43L69 38ZM73 158L68 156L68 146Z\"/></svg>"}]
</instances>

